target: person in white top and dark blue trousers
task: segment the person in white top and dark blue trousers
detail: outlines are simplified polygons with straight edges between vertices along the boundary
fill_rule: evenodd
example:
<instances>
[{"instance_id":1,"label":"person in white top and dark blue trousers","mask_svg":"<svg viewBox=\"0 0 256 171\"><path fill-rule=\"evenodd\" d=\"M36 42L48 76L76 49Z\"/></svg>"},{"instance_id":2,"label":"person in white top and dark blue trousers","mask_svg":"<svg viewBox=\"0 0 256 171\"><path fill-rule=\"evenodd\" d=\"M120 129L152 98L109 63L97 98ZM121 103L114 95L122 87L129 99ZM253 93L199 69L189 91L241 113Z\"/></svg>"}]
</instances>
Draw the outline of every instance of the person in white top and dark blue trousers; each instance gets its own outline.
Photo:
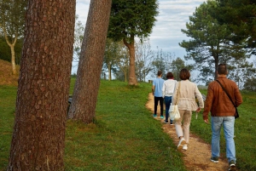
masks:
<instances>
[{"instance_id":1,"label":"person in white top and dark blue trousers","mask_svg":"<svg viewBox=\"0 0 256 171\"><path fill-rule=\"evenodd\" d=\"M166 74L167 80L163 84L162 88L162 94L163 98L166 103L166 121L165 123L168 123L168 117L169 117L169 109L170 105L172 103L172 94L174 93L174 88L177 83L176 80L174 80L172 72L168 72ZM173 121L170 119L170 124L173 125Z\"/></svg>"}]
</instances>

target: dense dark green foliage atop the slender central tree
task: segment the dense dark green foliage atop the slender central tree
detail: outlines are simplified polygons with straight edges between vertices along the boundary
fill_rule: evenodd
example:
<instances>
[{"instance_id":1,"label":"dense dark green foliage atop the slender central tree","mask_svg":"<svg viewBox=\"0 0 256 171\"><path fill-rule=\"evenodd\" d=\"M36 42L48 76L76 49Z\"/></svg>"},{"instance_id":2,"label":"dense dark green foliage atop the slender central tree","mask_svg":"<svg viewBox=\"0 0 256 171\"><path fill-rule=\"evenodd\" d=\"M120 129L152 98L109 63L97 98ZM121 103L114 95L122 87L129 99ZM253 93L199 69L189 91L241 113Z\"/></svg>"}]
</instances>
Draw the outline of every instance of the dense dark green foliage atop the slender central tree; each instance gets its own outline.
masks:
<instances>
[{"instance_id":1,"label":"dense dark green foliage atop the slender central tree","mask_svg":"<svg viewBox=\"0 0 256 171\"><path fill-rule=\"evenodd\" d=\"M114 41L148 37L158 14L156 0L113 0L108 37Z\"/></svg>"}]
</instances>

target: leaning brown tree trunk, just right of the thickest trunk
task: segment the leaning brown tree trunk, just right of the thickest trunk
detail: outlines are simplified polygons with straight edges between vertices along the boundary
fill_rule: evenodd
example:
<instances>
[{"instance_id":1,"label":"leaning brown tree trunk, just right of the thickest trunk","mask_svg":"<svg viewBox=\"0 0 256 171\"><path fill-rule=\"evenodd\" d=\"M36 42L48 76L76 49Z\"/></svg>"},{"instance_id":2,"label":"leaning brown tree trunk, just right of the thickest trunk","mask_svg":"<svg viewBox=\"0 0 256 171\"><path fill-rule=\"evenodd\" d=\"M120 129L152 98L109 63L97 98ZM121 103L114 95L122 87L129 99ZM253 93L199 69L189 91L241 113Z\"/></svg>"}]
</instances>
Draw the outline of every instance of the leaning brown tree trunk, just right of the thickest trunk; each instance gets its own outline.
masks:
<instances>
[{"instance_id":1,"label":"leaning brown tree trunk, just right of the thickest trunk","mask_svg":"<svg viewBox=\"0 0 256 171\"><path fill-rule=\"evenodd\" d=\"M91 0L84 31L78 76L69 118L91 123L95 117L102 62L105 51L111 0Z\"/></svg>"}]
</instances>

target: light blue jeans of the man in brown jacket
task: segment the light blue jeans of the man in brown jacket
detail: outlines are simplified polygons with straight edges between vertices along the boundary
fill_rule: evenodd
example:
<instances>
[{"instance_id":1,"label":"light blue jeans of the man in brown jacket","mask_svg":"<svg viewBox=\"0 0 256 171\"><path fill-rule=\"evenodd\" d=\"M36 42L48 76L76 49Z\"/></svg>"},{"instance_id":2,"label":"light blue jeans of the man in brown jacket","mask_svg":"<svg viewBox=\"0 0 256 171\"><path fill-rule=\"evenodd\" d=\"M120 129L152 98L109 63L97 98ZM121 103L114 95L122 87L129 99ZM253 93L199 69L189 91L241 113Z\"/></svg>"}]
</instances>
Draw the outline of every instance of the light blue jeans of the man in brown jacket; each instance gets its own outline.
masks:
<instances>
[{"instance_id":1,"label":"light blue jeans of the man in brown jacket","mask_svg":"<svg viewBox=\"0 0 256 171\"><path fill-rule=\"evenodd\" d=\"M220 130L223 125L226 141L226 156L236 162L236 146L234 141L235 117L211 117L212 122L212 157L219 157Z\"/></svg>"}]
</instances>

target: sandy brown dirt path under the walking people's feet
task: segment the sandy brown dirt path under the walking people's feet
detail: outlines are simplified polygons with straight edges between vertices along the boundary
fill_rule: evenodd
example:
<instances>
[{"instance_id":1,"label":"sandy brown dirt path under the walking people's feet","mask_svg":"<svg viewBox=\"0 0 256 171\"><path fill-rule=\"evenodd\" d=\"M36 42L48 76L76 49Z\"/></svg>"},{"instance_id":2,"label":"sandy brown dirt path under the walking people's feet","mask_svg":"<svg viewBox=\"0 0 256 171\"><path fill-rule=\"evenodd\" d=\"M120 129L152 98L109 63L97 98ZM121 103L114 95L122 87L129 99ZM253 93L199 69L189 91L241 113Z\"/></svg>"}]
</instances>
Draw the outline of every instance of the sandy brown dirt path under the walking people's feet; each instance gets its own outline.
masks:
<instances>
[{"instance_id":1,"label":"sandy brown dirt path under the walking people's feet","mask_svg":"<svg viewBox=\"0 0 256 171\"><path fill-rule=\"evenodd\" d=\"M148 94L148 103L146 107L154 112L154 96ZM158 117L155 119L163 123L163 131L169 134L173 142L177 145L178 139L175 132L175 126L164 123L164 119L160 119L160 105L158 106ZM164 111L165 112L165 111ZM200 117L198 119L201 119ZM192 120L193 122L193 120ZM203 121L202 121L203 122ZM184 154L183 161L190 171L224 171L229 170L229 164L225 157L219 157L219 162L214 163L210 161L211 145L190 133L189 145L187 151L181 151Z\"/></svg>"}]
</instances>

